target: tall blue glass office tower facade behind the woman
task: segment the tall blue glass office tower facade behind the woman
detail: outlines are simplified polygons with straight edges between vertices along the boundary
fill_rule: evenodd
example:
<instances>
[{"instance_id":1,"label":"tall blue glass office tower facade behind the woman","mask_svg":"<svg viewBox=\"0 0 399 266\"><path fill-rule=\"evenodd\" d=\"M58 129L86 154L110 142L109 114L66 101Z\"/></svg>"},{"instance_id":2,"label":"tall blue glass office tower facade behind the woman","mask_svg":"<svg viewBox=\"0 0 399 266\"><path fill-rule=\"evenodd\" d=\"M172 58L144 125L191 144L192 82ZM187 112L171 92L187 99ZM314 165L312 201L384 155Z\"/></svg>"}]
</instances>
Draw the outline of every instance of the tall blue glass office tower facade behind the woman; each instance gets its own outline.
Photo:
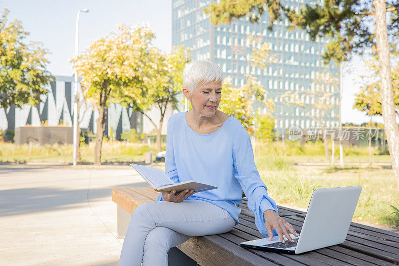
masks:
<instances>
[{"instance_id":1,"label":"tall blue glass office tower facade behind the woman","mask_svg":"<svg viewBox=\"0 0 399 266\"><path fill-rule=\"evenodd\" d=\"M315 3L310 0L282 2L297 10L303 4ZM275 117L277 134L285 133L290 125L301 128L320 126L306 116L302 107L287 106L280 95L291 90L298 91L301 96L301 91L314 91L322 87L312 83L315 74L326 69L322 65L322 54L328 40L317 38L313 42L304 30L289 31L286 19L276 23L273 31L269 31L267 14L263 14L258 23L241 18L234 19L230 24L214 26L202 11L209 3L209 0L172 0L172 45L190 48L193 60L206 59L217 63L224 77L231 77L233 86L244 85L246 74L256 77L267 91L267 97L275 102L272 115ZM318 3L321 4L321 1ZM264 69L248 65L252 52L252 45L247 41L248 35L262 37L262 42L269 42L270 54L275 56L275 62L268 63ZM339 68L336 65L331 63L328 71L338 77ZM329 100L334 104L333 108L325 111L323 120L327 127L338 126L339 91L333 88L323 90L333 94ZM310 97L305 100L307 110L311 113L321 111L311 108L314 99ZM261 113L267 111L259 106L257 109Z\"/></svg>"}]
</instances>

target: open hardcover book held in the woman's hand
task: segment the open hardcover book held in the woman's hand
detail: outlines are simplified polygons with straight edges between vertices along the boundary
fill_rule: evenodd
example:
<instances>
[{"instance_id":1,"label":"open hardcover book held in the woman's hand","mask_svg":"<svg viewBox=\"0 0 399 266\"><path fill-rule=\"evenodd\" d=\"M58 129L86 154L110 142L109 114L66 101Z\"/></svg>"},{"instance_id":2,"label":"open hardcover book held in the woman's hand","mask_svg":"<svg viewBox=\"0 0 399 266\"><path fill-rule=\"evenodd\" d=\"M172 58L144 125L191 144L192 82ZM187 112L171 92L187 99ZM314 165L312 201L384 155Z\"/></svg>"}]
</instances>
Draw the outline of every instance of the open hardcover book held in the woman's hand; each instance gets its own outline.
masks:
<instances>
[{"instance_id":1,"label":"open hardcover book held in the woman's hand","mask_svg":"<svg viewBox=\"0 0 399 266\"><path fill-rule=\"evenodd\" d=\"M161 169L138 164L131 164L131 166L133 166L137 173L139 173L155 191L169 193L172 190L176 190L176 193L179 193L185 189L194 190L195 192L217 189L217 187L195 181L175 183Z\"/></svg>"}]
</instances>

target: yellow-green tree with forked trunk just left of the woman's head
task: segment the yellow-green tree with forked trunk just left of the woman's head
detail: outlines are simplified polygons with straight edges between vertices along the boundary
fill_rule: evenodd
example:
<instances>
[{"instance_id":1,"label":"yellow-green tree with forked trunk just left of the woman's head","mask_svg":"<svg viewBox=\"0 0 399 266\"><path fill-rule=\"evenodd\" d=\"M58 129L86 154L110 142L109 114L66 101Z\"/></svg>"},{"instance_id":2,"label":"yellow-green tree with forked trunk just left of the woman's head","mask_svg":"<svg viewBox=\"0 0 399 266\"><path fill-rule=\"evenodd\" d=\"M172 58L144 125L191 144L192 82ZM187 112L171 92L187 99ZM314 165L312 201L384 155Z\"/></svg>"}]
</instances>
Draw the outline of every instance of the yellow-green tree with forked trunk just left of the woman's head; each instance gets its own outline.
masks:
<instances>
[{"instance_id":1,"label":"yellow-green tree with forked trunk just left of the woman's head","mask_svg":"<svg viewBox=\"0 0 399 266\"><path fill-rule=\"evenodd\" d=\"M157 149L161 151L161 133L165 112L168 106L178 109L178 95L183 89L183 70L186 65L184 48L177 46L169 54L163 54L158 48L149 51L149 72L143 84L140 97L133 98L130 104L135 112L145 115L157 132ZM160 111L158 124L146 114L151 108Z\"/></svg>"}]
</instances>

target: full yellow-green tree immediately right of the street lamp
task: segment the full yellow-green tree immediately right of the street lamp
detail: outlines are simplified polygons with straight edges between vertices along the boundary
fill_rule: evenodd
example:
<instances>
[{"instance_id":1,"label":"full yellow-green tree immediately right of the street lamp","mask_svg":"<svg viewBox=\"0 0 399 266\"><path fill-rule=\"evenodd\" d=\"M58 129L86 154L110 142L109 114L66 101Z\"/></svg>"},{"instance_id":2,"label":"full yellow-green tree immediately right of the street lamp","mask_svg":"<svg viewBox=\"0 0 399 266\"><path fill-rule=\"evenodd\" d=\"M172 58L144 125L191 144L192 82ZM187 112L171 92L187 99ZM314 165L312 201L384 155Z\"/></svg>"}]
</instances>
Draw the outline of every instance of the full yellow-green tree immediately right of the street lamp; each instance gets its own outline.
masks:
<instances>
[{"instance_id":1,"label":"full yellow-green tree immediately right of the street lamp","mask_svg":"<svg viewBox=\"0 0 399 266\"><path fill-rule=\"evenodd\" d=\"M127 105L140 97L151 65L148 53L154 33L146 26L118 25L117 30L93 41L87 50L72 58L82 77L86 99L97 106L94 164L101 164L101 146L110 103Z\"/></svg>"}]
</instances>

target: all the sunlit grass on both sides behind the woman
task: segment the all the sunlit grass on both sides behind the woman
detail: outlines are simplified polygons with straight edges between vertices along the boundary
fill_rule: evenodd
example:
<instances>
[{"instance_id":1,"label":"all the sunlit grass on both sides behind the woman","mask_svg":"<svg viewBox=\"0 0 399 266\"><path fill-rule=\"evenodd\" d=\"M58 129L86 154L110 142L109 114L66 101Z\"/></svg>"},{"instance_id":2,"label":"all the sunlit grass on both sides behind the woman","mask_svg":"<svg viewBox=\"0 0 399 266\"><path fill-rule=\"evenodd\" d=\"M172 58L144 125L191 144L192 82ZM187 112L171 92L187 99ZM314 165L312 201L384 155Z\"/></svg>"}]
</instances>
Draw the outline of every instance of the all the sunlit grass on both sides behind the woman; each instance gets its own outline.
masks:
<instances>
[{"instance_id":1,"label":"all the sunlit grass on both sides behind the woman","mask_svg":"<svg viewBox=\"0 0 399 266\"><path fill-rule=\"evenodd\" d=\"M384 225L399 226L399 191L394 174L387 167L367 167L367 147L345 147L344 169L320 165L305 166L301 163L325 163L324 146L320 143L286 144L254 143L255 163L269 195L279 204L307 208L313 190L316 188L361 185L363 190L355 212L358 220ZM330 145L331 147L331 145ZM102 162L143 162L144 154L155 145L141 143L104 142ZM165 150L165 144L163 144ZM0 162L53 162L72 163L72 145L25 144L14 145L0 142ZM373 162L390 163L389 155L373 151ZM338 151L336 162L338 163ZM93 163L94 143L81 147L83 163ZM162 164L156 167L163 167ZM355 220L356 220L355 219Z\"/></svg>"}]
</instances>

